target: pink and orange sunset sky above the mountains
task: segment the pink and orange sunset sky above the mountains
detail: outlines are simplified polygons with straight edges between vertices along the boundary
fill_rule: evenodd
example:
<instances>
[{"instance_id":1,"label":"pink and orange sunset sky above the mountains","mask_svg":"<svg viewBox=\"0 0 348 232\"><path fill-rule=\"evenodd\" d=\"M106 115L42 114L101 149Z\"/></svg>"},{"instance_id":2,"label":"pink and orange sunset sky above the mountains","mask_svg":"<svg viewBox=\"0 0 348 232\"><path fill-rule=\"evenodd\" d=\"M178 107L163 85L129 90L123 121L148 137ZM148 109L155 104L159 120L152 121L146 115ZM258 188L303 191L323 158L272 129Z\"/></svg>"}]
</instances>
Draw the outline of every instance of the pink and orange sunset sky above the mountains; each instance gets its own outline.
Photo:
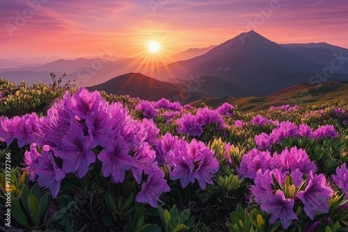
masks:
<instances>
[{"instance_id":1,"label":"pink and orange sunset sky above the mountains","mask_svg":"<svg viewBox=\"0 0 348 232\"><path fill-rule=\"evenodd\" d=\"M0 58L99 56L104 49L129 57L152 40L171 54L252 29L278 43L348 48L347 15L346 0L1 0Z\"/></svg>"}]
</instances>

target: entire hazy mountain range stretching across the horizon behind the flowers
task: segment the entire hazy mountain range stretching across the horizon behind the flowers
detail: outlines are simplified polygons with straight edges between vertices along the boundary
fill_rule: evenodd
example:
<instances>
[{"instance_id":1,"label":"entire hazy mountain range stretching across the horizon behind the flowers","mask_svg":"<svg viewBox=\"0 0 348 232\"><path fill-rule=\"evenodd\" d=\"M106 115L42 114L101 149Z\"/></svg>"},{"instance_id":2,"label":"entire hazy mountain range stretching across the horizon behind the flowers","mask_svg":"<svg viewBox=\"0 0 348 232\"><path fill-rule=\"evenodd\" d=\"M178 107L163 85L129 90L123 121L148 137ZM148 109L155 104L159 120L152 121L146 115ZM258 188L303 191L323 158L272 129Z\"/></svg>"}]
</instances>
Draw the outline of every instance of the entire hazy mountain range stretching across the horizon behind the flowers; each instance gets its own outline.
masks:
<instances>
[{"instance_id":1,"label":"entire hazy mountain range stretching across the horizon behind the flowers","mask_svg":"<svg viewBox=\"0 0 348 232\"><path fill-rule=\"evenodd\" d=\"M29 84L51 83L49 72L56 76L66 72L65 78L74 78L77 85L92 86L93 90L144 99L185 91L190 96L182 99L191 101L200 96L266 96L300 83L348 81L347 57L348 49L331 44L277 44L249 31L217 46L177 53L171 56L172 63L141 58L59 59L45 65L3 68L0 78L16 83L22 79ZM316 77L322 72L329 74L328 78ZM161 88L164 90L159 91Z\"/></svg>"}]
</instances>

